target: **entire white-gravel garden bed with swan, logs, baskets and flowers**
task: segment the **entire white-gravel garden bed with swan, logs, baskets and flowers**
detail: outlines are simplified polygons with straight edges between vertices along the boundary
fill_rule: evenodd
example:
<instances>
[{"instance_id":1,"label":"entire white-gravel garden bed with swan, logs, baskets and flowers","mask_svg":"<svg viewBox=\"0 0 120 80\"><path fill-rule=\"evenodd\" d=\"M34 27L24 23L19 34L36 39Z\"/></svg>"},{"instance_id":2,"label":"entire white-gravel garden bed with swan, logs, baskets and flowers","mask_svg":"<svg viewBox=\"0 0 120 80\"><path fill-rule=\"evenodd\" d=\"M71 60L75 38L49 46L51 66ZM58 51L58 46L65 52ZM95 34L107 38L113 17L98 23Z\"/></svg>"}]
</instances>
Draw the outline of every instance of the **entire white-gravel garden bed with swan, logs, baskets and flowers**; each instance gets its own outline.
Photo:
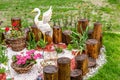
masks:
<instances>
[{"instance_id":1,"label":"entire white-gravel garden bed with swan, logs, baskets and flowers","mask_svg":"<svg viewBox=\"0 0 120 80\"><path fill-rule=\"evenodd\" d=\"M101 23L96 22L90 31L88 19L79 19L73 28L67 28L72 25L67 24L68 21L65 22L66 28L60 22L59 26L51 28L48 22L52 7L43 13L41 21L38 20L40 10L35 8L32 12L38 14L30 28L23 30L20 18L12 18L12 28L5 28L10 67L7 76L15 80L84 80L105 63ZM0 54L3 63L7 58L2 52ZM0 71L5 72L4 69Z\"/></svg>"}]
</instances>

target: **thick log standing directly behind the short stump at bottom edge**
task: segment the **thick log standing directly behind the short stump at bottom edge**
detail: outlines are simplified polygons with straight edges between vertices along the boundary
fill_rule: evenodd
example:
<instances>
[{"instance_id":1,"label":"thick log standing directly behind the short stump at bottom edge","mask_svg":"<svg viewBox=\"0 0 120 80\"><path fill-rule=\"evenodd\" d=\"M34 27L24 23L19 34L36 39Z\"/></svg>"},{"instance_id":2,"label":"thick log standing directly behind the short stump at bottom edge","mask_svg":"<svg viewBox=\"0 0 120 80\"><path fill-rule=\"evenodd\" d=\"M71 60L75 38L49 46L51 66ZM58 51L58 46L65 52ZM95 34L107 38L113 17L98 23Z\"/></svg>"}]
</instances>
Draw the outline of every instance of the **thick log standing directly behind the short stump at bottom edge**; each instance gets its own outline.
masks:
<instances>
[{"instance_id":1,"label":"thick log standing directly behind the short stump at bottom edge","mask_svg":"<svg viewBox=\"0 0 120 80\"><path fill-rule=\"evenodd\" d=\"M82 70L82 75L85 75L88 70L88 56L86 54L81 54L75 57L76 68Z\"/></svg>"}]
</instances>

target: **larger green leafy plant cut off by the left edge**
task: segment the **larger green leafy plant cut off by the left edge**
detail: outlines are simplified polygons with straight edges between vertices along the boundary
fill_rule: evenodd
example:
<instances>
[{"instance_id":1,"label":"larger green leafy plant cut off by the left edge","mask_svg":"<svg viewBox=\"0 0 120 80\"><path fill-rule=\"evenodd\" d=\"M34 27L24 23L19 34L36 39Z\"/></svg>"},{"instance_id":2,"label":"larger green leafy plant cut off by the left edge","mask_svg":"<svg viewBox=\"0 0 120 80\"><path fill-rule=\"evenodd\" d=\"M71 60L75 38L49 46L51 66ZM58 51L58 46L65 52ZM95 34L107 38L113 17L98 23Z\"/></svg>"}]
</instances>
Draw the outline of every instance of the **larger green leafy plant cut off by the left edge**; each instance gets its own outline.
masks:
<instances>
[{"instance_id":1,"label":"larger green leafy plant cut off by the left edge","mask_svg":"<svg viewBox=\"0 0 120 80\"><path fill-rule=\"evenodd\" d=\"M8 57L5 53L6 48L0 45L0 63L6 64L8 61Z\"/></svg>"}]
</instances>

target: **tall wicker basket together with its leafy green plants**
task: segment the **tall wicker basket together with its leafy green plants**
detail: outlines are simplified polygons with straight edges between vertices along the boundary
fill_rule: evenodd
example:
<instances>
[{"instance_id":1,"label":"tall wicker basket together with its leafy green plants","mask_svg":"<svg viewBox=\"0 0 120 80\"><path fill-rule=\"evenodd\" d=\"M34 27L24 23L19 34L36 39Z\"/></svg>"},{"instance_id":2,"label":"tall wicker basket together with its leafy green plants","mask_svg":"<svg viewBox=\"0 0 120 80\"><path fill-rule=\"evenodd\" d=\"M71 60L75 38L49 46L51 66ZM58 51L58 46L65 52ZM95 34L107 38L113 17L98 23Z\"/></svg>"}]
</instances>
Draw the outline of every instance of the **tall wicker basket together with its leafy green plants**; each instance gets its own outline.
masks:
<instances>
[{"instance_id":1,"label":"tall wicker basket together with its leafy green plants","mask_svg":"<svg viewBox=\"0 0 120 80\"><path fill-rule=\"evenodd\" d=\"M5 39L14 51L21 51L26 47L26 35L18 28L9 30L6 27Z\"/></svg>"}]
</instances>

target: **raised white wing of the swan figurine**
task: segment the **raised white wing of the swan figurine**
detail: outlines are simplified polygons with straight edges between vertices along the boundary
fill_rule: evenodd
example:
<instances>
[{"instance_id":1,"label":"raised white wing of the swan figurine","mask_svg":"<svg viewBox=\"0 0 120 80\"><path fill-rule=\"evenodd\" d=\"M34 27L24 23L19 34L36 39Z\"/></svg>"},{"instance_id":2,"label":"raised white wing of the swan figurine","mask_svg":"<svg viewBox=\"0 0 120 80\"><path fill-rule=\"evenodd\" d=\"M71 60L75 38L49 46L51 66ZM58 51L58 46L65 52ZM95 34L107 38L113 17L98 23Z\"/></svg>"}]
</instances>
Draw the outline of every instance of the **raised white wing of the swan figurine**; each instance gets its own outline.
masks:
<instances>
[{"instance_id":1,"label":"raised white wing of the swan figurine","mask_svg":"<svg viewBox=\"0 0 120 80\"><path fill-rule=\"evenodd\" d=\"M52 6L50 6L49 10L43 13L42 21L43 23L48 23L52 16Z\"/></svg>"}]
</instances>

